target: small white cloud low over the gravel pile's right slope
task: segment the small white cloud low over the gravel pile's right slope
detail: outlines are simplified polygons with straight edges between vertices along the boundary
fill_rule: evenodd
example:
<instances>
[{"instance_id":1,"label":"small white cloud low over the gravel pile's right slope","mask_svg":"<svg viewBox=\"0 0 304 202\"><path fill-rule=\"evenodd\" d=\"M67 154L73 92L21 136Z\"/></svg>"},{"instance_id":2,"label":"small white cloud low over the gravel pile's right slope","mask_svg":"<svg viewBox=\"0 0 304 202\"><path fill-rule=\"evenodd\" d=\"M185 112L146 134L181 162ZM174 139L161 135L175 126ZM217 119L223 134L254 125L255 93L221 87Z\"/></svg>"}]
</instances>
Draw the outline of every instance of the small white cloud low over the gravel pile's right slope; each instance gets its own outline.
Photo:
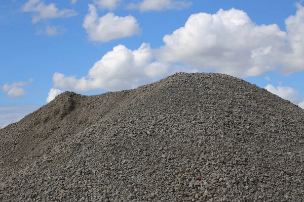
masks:
<instances>
[{"instance_id":1,"label":"small white cloud low over the gravel pile's right slope","mask_svg":"<svg viewBox=\"0 0 304 202\"><path fill-rule=\"evenodd\" d=\"M265 86L265 89L268 91L282 97L283 99L289 100L291 103L297 105L299 104L303 98L299 95L299 93L289 86L273 86L272 84L268 84Z\"/></svg>"}]
</instances>

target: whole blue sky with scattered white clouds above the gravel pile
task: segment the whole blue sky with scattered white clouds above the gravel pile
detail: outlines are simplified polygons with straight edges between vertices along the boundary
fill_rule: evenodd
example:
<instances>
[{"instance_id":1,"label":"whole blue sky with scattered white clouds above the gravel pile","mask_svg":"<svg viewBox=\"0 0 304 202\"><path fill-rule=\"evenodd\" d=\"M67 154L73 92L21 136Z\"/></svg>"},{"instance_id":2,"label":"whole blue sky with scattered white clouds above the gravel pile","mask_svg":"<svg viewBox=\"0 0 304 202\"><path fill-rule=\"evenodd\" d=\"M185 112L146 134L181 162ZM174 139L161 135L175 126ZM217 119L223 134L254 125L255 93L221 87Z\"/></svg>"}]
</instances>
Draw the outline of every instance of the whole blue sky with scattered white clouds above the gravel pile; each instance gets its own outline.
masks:
<instances>
[{"instance_id":1,"label":"whole blue sky with scattered white clouds above the gravel pile","mask_svg":"<svg viewBox=\"0 0 304 202\"><path fill-rule=\"evenodd\" d=\"M237 76L304 108L302 2L2 0L0 30L0 127L65 90L179 71Z\"/></svg>"}]
</instances>

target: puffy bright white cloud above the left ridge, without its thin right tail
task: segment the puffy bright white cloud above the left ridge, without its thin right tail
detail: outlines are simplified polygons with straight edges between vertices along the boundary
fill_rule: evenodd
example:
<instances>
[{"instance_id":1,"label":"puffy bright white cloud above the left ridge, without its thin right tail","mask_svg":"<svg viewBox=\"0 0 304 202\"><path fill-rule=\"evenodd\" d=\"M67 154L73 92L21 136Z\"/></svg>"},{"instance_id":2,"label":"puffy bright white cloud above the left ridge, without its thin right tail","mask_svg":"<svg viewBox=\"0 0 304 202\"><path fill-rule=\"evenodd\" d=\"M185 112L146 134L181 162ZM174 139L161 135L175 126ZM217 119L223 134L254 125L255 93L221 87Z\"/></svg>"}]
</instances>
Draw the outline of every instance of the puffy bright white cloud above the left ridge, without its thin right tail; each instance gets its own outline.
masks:
<instances>
[{"instance_id":1,"label":"puffy bright white cloud above the left ridge, without its thin right tail","mask_svg":"<svg viewBox=\"0 0 304 202\"><path fill-rule=\"evenodd\" d=\"M97 61L86 77L77 79L75 76L56 72L53 75L54 87L80 92L132 88L141 83L138 79L144 77L143 68L152 57L149 44L143 43L134 51L124 45L118 45Z\"/></svg>"}]
</instances>

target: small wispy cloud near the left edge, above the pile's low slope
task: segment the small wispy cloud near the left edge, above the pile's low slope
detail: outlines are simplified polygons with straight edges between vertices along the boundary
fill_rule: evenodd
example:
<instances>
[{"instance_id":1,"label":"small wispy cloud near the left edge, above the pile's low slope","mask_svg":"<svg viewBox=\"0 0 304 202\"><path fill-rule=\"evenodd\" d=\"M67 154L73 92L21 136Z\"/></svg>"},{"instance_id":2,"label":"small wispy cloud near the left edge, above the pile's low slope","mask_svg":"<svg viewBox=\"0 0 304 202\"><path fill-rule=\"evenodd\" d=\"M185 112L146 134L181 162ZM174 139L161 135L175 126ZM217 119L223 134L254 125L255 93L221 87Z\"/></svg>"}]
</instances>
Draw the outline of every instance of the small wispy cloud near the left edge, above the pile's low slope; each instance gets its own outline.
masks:
<instances>
[{"instance_id":1,"label":"small wispy cloud near the left edge, above the pile's low slope","mask_svg":"<svg viewBox=\"0 0 304 202\"><path fill-rule=\"evenodd\" d=\"M9 98L23 97L26 95L26 92L20 86L26 86L26 85L30 84L32 81L33 81L33 79L30 78L28 82L22 82L22 81L15 82L11 85L6 83L2 86L2 90L7 93L7 96Z\"/></svg>"}]
</instances>

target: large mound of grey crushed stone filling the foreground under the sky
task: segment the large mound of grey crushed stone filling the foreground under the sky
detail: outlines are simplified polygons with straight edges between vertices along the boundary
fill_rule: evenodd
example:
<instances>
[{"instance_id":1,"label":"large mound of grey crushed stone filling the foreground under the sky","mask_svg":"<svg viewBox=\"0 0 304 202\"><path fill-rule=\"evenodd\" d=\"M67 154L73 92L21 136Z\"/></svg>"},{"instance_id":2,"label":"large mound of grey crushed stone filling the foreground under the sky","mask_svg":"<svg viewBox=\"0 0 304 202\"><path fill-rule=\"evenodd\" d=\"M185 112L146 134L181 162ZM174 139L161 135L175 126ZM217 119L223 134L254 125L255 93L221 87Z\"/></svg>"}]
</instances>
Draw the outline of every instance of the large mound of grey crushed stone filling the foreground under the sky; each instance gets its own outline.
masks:
<instances>
[{"instance_id":1,"label":"large mound of grey crushed stone filling the foreground under the sky","mask_svg":"<svg viewBox=\"0 0 304 202\"><path fill-rule=\"evenodd\" d=\"M298 106L216 73L64 92L0 129L0 201L301 201L303 123Z\"/></svg>"}]
</instances>

